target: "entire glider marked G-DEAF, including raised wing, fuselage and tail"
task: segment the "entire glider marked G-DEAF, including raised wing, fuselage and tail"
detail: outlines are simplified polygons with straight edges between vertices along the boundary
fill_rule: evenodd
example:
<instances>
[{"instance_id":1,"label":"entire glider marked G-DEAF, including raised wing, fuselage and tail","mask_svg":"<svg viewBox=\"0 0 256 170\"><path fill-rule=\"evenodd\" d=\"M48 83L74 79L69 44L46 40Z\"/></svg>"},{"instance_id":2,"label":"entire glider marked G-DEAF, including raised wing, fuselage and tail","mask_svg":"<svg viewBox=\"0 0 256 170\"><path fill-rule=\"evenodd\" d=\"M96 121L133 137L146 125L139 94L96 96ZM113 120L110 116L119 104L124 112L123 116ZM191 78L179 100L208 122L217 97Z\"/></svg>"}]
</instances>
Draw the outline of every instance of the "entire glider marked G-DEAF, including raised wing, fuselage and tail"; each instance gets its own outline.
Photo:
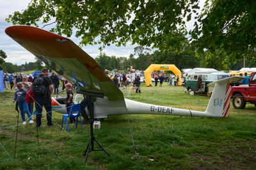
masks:
<instances>
[{"instance_id":1,"label":"entire glider marked G-DEAF, including raised wing, fuselage and tail","mask_svg":"<svg viewBox=\"0 0 256 170\"><path fill-rule=\"evenodd\" d=\"M122 91L96 61L68 38L31 26L11 26L5 32L45 65L76 84L78 93L92 95L94 118L108 118L109 115L116 114L228 117L231 90L229 84L241 80L241 77L229 77L209 84L215 87L204 112L145 104L124 98Z\"/></svg>"}]
</instances>

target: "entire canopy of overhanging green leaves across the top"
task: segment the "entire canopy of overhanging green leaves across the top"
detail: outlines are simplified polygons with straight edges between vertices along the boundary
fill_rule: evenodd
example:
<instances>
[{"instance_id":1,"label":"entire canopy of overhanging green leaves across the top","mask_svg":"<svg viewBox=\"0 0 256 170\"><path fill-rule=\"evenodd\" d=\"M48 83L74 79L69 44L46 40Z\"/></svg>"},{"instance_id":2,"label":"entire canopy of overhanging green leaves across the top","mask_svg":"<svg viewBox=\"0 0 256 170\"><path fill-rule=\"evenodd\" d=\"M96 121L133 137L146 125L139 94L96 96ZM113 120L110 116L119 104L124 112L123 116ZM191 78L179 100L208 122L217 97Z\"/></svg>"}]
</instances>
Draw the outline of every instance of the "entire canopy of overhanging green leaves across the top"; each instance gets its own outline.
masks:
<instances>
[{"instance_id":1,"label":"entire canopy of overhanging green leaves across the top","mask_svg":"<svg viewBox=\"0 0 256 170\"><path fill-rule=\"evenodd\" d=\"M227 55L227 63L244 56L255 61L256 1L206 0L202 12L198 12L199 1L33 0L26 10L14 12L6 21L35 26L52 22L51 31L75 34L81 37L81 45L120 46L131 41L143 47L181 52L188 37L185 20L195 15L189 42L196 52L216 54L221 50Z\"/></svg>"}]
</instances>

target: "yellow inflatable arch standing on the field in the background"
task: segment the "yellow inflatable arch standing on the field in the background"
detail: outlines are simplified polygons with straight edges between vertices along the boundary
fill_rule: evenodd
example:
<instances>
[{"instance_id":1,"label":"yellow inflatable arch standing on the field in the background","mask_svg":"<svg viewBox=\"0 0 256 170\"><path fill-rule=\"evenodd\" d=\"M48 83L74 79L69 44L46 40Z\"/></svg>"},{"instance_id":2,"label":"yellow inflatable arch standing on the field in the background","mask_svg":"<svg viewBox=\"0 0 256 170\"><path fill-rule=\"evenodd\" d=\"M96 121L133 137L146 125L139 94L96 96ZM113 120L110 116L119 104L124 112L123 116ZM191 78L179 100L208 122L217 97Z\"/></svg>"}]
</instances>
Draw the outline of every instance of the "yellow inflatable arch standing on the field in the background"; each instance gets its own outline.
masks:
<instances>
[{"instance_id":1,"label":"yellow inflatable arch standing on the field in the background","mask_svg":"<svg viewBox=\"0 0 256 170\"><path fill-rule=\"evenodd\" d=\"M178 85L181 86L181 72L175 65L150 65L148 66L147 70L145 70L145 82L146 86L152 86L151 81L151 73L154 71L172 71L176 76L179 75L179 82Z\"/></svg>"}]
</instances>

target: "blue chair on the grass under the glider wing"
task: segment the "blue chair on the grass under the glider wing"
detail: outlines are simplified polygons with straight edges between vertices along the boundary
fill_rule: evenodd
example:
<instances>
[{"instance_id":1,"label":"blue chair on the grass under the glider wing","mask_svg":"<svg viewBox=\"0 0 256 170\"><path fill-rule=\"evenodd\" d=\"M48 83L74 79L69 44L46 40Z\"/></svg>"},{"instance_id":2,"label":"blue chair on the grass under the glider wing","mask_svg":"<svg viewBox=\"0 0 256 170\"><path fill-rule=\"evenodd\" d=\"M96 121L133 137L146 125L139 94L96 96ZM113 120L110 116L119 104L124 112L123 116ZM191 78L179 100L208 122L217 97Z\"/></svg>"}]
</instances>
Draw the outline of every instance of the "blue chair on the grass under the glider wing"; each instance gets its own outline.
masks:
<instances>
[{"instance_id":1,"label":"blue chair on the grass under the glider wing","mask_svg":"<svg viewBox=\"0 0 256 170\"><path fill-rule=\"evenodd\" d=\"M77 112L77 113L73 114L73 112ZM63 127L63 120L65 120L67 131L69 132L67 118L76 118L76 127L77 127L78 117L80 118L82 127L84 127L80 114L81 114L81 104L70 104L70 107L68 109L68 114L63 114L63 116L62 116L61 129Z\"/></svg>"}]
</instances>

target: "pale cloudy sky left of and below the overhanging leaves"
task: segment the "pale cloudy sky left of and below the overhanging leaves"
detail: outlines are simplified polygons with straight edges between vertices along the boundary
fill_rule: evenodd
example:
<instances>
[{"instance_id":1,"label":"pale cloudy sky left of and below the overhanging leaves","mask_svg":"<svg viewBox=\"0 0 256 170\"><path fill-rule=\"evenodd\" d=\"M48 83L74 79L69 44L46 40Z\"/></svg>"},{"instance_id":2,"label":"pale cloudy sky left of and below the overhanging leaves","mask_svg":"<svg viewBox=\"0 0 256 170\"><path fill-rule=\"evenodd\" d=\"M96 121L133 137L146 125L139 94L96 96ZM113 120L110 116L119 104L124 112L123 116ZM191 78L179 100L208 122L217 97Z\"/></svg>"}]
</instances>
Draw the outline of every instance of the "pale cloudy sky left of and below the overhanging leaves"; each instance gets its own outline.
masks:
<instances>
[{"instance_id":1,"label":"pale cloudy sky left of and below the overhanging leaves","mask_svg":"<svg viewBox=\"0 0 256 170\"><path fill-rule=\"evenodd\" d=\"M26 9L31 0L1 0L0 1L0 50L6 52L7 58L4 59L6 62L10 62L17 65L22 65L25 62L34 62L35 56L20 46L17 42L12 40L4 30L6 27L12 26L12 23L7 23L5 19L8 15L12 15L15 11L21 11ZM202 6L203 2L200 2ZM188 27L193 26L193 20L187 24ZM50 29L51 27L44 27L44 29ZM79 44L79 38L71 36L69 38L77 45ZM115 45L110 45L102 50L107 56L116 56L116 57L126 57L128 58L130 54L134 54L134 47L137 45L131 45L127 43L125 47L116 47ZM99 45L87 45L83 47L83 50L96 58L100 54Z\"/></svg>"}]
</instances>

